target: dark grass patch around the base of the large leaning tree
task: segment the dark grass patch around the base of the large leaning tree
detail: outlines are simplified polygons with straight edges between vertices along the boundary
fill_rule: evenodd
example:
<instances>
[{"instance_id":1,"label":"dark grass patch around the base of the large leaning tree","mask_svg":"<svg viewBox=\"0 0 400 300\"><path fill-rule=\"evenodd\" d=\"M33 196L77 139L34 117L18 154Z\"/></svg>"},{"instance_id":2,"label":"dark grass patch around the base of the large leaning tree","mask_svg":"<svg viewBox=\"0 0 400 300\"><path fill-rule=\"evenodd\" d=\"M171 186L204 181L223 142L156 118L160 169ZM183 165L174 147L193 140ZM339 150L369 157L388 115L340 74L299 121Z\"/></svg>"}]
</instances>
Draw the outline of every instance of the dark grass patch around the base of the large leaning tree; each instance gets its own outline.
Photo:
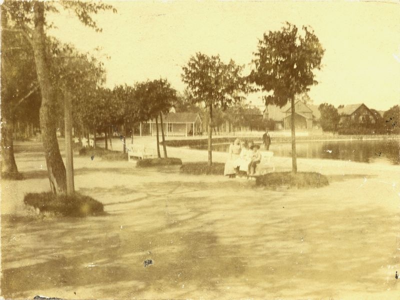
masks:
<instances>
[{"instance_id":1,"label":"dark grass patch around the base of the large leaning tree","mask_svg":"<svg viewBox=\"0 0 400 300\"><path fill-rule=\"evenodd\" d=\"M40 213L60 216L85 217L104 214L102 203L79 193L71 196L55 195L52 192L28 193L23 202L38 209Z\"/></svg>"}]
</instances>

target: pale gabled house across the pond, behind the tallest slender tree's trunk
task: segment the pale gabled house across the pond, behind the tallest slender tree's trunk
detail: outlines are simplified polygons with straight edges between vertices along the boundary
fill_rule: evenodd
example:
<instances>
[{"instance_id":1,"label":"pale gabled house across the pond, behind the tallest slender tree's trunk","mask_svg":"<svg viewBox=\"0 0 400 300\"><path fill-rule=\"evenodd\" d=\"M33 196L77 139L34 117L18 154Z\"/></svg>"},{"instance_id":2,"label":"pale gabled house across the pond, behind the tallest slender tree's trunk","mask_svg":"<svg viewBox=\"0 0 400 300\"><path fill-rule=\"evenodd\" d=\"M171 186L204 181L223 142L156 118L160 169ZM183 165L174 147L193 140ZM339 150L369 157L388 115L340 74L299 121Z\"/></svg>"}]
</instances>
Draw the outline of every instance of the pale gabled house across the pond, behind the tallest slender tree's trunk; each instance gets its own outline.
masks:
<instances>
[{"instance_id":1,"label":"pale gabled house across the pond, behind the tallest slender tree's trunk","mask_svg":"<svg viewBox=\"0 0 400 300\"><path fill-rule=\"evenodd\" d=\"M301 100L294 103L295 128L310 131L319 127L320 113L316 105L305 105ZM268 105L264 111L264 119L275 121L277 129L291 128L291 103L282 108Z\"/></svg>"}]
</instances>

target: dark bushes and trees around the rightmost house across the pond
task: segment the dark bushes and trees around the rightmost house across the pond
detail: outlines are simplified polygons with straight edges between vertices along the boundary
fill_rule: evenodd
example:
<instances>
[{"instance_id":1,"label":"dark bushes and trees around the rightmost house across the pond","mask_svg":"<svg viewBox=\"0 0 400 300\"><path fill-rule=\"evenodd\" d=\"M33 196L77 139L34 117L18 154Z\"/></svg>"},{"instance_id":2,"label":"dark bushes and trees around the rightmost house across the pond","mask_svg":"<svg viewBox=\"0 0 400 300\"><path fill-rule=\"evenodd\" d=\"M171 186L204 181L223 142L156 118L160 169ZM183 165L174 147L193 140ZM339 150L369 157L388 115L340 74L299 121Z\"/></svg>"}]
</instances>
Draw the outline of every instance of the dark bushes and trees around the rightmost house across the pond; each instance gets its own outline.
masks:
<instances>
[{"instance_id":1,"label":"dark bushes and trees around the rightmost house across the pond","mask_svg":"<svg viewBox=\"0 0 400 300\"><path fill-rule=\"evenodd\" d=\"M395 105L383 116L378 111L371 109L373 120L366 118L363 121L345 119L340 122L340 115L337 109L327 103L318 107L321 117L320 125L323 131L337 132L339 134L399 134L400 107Z\"/></svg>"}]
</instances>

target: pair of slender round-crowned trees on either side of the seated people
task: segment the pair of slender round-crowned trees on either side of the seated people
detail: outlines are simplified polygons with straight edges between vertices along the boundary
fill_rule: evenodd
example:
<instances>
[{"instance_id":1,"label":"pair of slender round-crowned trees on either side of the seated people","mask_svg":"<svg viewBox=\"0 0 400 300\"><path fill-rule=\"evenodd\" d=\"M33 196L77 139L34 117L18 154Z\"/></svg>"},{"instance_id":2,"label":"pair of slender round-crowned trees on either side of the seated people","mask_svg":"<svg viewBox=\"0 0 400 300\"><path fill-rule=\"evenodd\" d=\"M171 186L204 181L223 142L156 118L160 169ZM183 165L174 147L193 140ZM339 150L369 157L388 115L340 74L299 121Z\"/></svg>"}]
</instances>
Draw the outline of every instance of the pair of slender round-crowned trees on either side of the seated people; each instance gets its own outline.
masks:
<instances>
[{"instance_id":1,"label":"pair of slender round-crowned trees on either side of the seated people","mask_svg":"<svg viewBox=\"0 0 400 300\"><path fill-rule=\"evenodd\" d=\"M283 107L291 103L294 124L294 102L297 95L306 94L317 84L313 71L321 67L324 49L313 31L286 23L280 31L265 33L254 53L253 70L242 76L243 66L232 60L221 62L219 56L197 53L183 67L182 80L187 85L193 103L202 103L208 111L208 165L212 164L211 135L213 110L226 110L239 103L243 94L265 92L265 105ZM297 171L295 131L291 127L292 170Z\"/></svg>"}]
</instances>

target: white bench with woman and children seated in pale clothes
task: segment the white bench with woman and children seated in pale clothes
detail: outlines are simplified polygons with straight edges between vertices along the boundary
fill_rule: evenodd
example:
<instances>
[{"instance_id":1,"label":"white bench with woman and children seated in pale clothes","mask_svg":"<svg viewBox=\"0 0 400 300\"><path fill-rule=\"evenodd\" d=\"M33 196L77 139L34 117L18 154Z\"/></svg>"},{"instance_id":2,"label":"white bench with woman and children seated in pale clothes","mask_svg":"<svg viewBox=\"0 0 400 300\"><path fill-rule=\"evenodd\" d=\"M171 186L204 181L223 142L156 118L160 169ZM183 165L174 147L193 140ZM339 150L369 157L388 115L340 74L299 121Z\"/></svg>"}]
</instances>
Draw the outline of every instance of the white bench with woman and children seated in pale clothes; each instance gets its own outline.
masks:
<instances>
[{"instance_id":1,"label":"white bench with woman and children seated in pale clothes","mask_svg":"<svg viewBox=\"0 0 400 300\"><path fill-rule=\"evenodd\" d=\"M239 177L253 177L263 175L271 170L275 170L271 157L273 152L261 152L259 146L253 142L240 142L235 139L229 145L228 159L226 160L224 172L225 176L229 178Z\"/></svg>"}]
</instances>

